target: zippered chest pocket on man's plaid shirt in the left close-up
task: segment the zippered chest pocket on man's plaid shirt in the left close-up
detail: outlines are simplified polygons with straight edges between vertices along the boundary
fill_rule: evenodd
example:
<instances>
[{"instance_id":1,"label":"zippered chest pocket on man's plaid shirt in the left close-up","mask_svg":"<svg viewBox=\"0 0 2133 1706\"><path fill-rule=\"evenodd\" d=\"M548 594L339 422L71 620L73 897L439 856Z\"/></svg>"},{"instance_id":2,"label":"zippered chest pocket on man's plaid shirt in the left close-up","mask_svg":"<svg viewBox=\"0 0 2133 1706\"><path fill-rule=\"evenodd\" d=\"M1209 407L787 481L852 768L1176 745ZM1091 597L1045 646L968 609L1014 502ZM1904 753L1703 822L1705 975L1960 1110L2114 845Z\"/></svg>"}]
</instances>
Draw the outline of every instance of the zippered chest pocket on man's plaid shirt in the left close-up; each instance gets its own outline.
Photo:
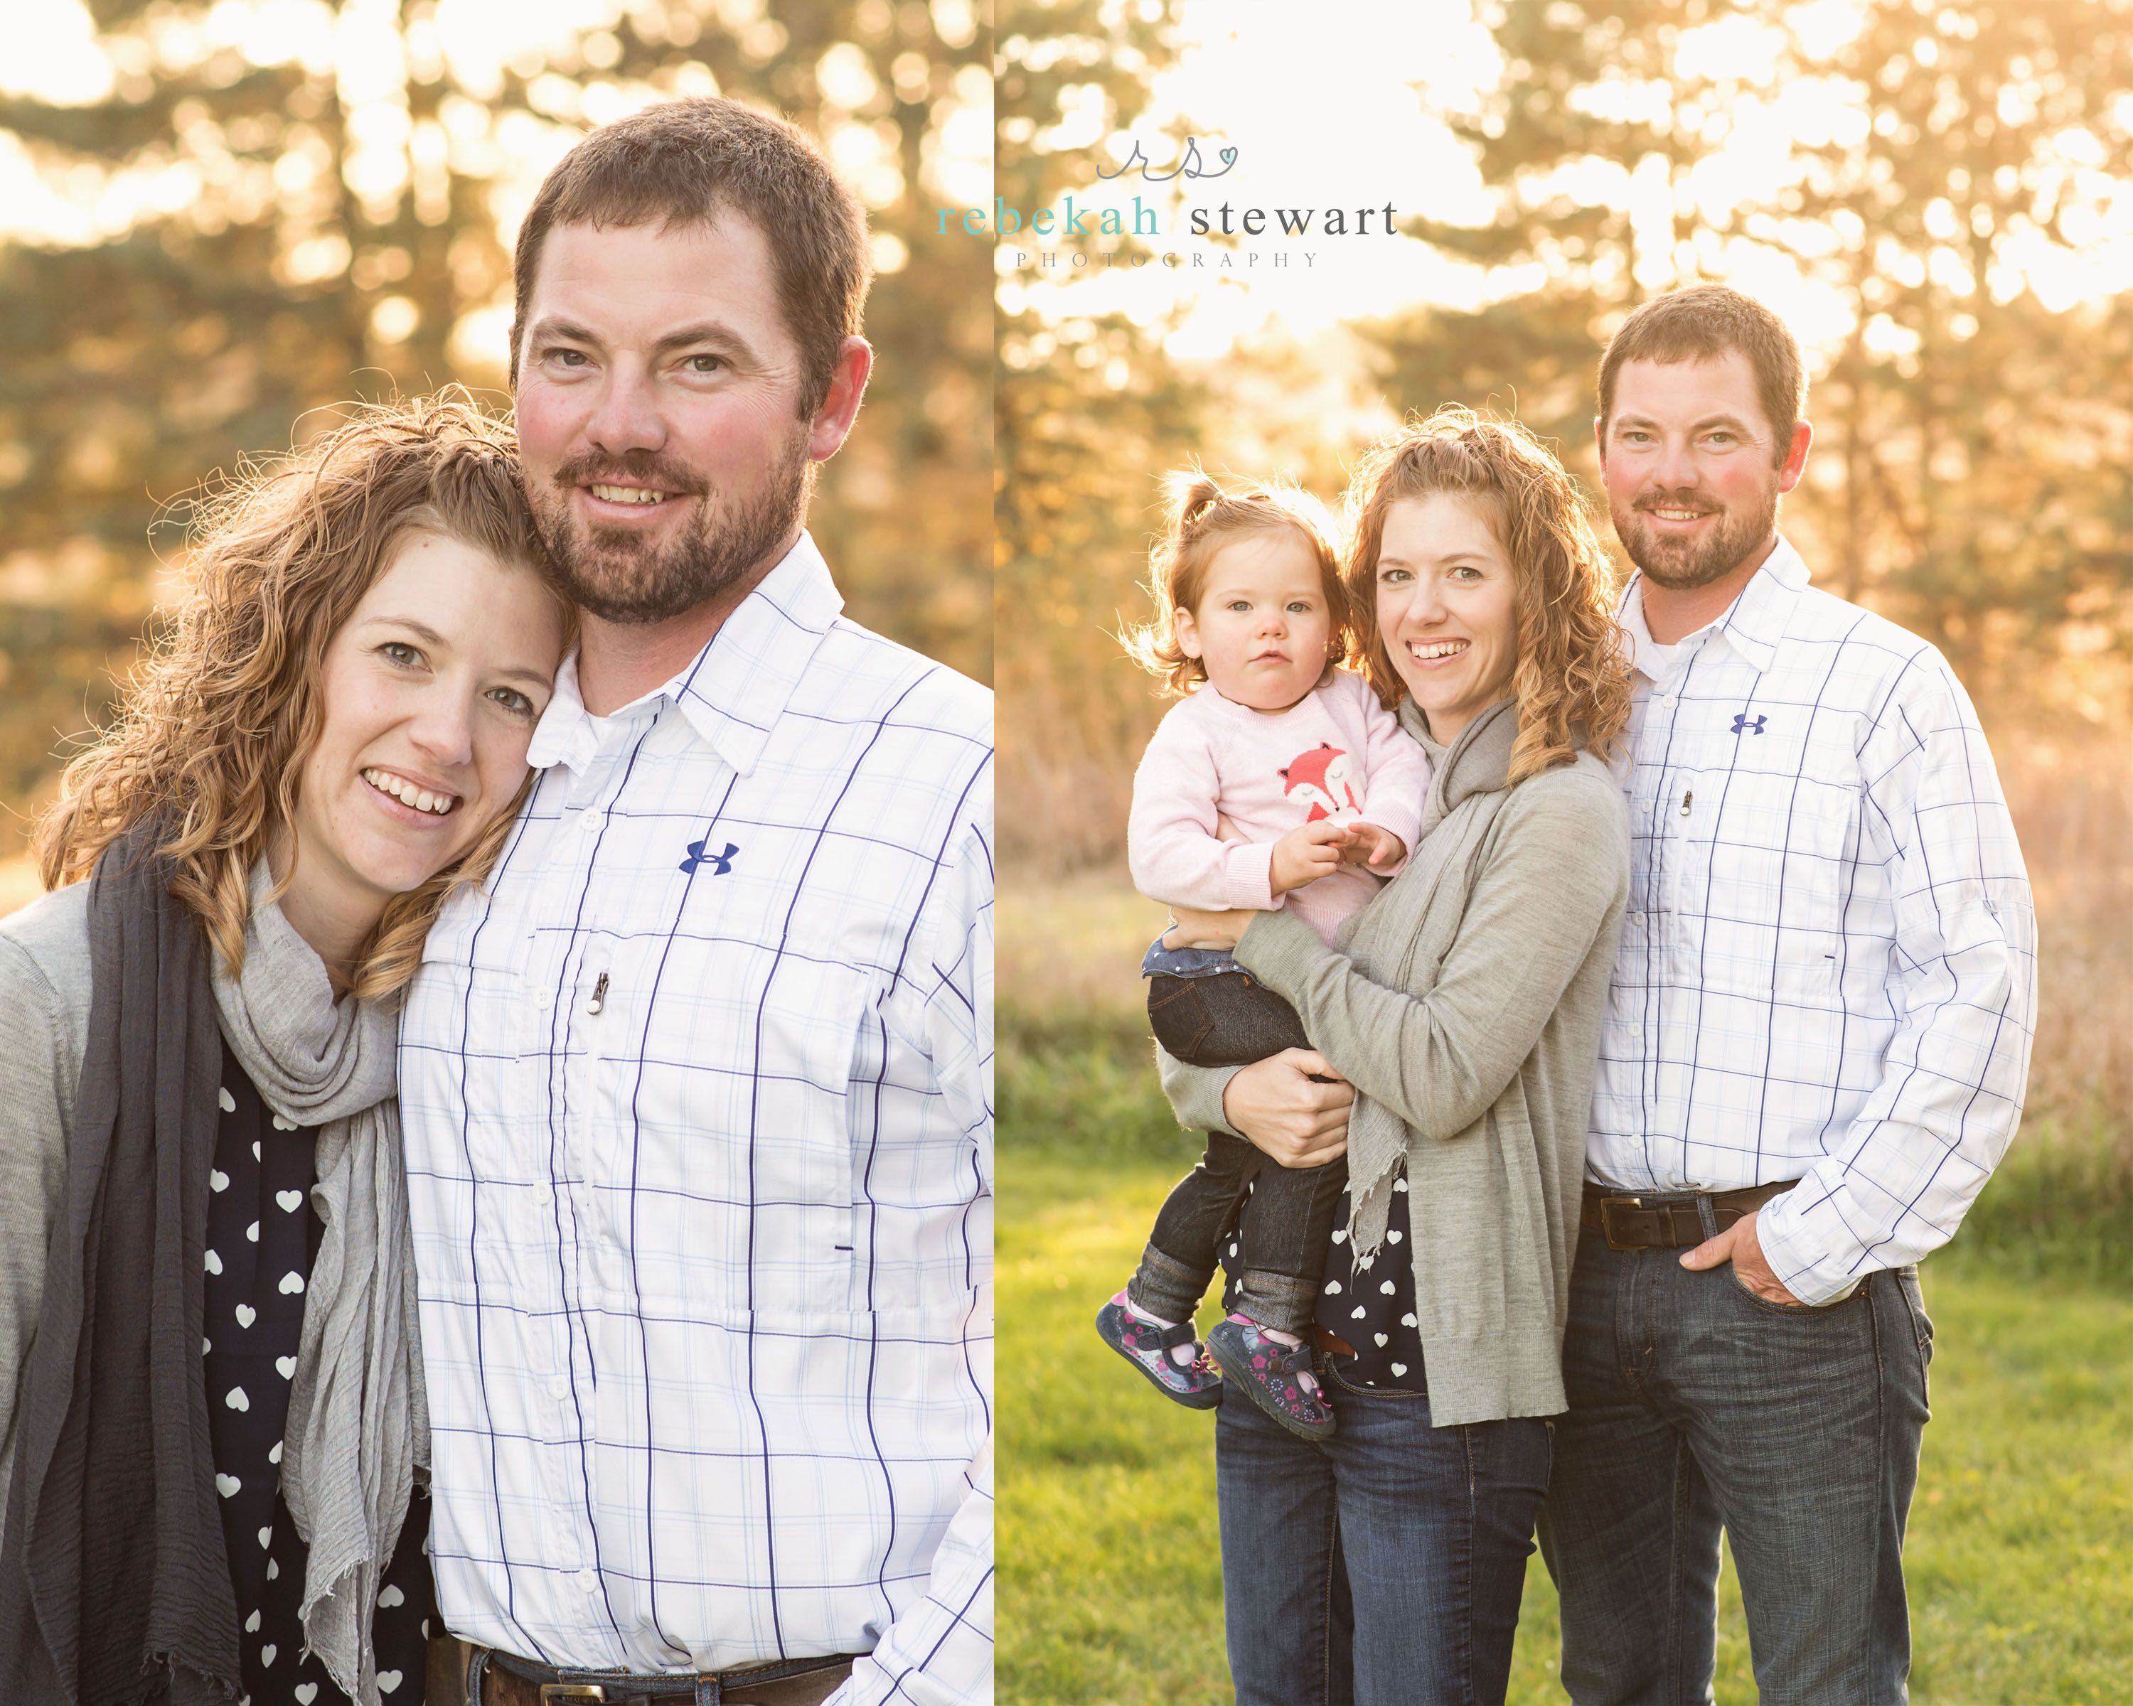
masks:
<instances>
[{"instance_id":1,"label":"zippered chest pocket on man's plaid shirt in the left close-up","mask_svg":"<svg viewBox=\"0 0 2133 1706\"><path fill-rule=\"evenodd\" d=\"M591 1166L599 1201L629 1216L638 1286L721 1316L847 1305L870 989L789 945L616 945L589 1028L606 1126Z\"/></svg>"}]
</instances>

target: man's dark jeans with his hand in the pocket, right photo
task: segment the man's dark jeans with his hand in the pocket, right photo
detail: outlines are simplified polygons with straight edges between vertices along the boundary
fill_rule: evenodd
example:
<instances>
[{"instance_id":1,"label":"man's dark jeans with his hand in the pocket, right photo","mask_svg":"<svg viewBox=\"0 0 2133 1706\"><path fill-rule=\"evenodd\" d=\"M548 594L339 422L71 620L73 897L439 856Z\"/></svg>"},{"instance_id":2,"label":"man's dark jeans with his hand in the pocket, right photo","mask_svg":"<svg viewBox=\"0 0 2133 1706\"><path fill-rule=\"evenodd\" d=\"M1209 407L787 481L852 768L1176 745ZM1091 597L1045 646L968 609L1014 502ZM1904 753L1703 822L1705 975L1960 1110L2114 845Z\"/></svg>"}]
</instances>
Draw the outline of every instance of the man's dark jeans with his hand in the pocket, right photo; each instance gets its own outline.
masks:
<instances>
[{"instance_id":1,"label":"man's dark jeans with his hand in the pocket, right photo","mask_svg":"<svg viewBox=\"0 0 2133 1706\"><path fill-rule=\"evenodd\" d=\"M1930 1361L1918 1269L1817 1309L1583 1233L1540 1523L1572 1702L1711 1700L1723 1527L1762 1706L1901 1706Z\"/></svg>"}]
</instances>

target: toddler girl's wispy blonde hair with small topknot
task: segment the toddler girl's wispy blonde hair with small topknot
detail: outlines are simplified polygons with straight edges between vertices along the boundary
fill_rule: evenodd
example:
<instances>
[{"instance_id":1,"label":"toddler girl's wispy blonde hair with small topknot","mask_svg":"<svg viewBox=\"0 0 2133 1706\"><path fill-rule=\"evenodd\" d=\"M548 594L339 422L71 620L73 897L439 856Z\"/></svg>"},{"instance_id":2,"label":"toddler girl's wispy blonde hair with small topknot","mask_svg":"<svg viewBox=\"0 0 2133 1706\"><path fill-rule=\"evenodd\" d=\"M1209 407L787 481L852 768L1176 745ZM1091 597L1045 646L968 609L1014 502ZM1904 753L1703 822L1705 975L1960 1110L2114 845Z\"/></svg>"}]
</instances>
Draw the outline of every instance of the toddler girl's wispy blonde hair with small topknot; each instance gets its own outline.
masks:
<instances>
[{"instance_id":1,"label":"toddler girl's wispy blonde hair with small topknot","mask_svg":"<svg viewBox=\"0 0 2133 1706\"><path fill-rule=\"evenodd\" d=\"M1318 586L1333 625L1327 635L1327 672L1331 674L1354 655L1354 612L1348 608L1348 582L1342 576L1340 548L1333 542L1333 522L1316 497L1284 480L1224 490L1212 473L1197 467L1162 476L1162 486L1167 525L1148 559L1148 595L1156 601L1156 618L1118 635L1126 655L1148 674L1160 678L1158 693L1182 699L1207 680L1207 665L1197 657L1186 657L1177 644L1177 612L1199 612L1216 552L1252 533L1288 529L1303 540L1318 563Z\"/></svg>"}]
</instances>

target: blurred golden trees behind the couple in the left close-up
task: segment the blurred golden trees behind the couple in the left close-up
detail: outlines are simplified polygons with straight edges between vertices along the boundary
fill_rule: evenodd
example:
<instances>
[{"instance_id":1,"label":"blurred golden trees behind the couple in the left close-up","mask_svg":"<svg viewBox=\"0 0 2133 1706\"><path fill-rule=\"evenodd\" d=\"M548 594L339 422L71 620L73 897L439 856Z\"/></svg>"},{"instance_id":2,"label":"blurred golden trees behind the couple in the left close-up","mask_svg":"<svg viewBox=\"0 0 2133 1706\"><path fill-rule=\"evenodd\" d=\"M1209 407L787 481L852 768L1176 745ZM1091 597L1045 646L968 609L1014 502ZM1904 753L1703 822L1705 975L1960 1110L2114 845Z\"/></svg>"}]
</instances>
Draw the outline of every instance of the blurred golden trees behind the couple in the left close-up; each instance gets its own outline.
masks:
<instances>
[{"instance_id":1,"label":"blurred golden trees behind the couple in the left close-up","mask_svg":"<svg viewBox=\"0 0 2133 1706\"><path fill-rule=\"evenodd\" d=\"M73 228L0 245L0 806L111 706L183 557L183 497L333 405L508 407L510 239L544 171L646 100L823 139L868 205L877 369L811 527L847 610L992 676L992 303L977 0L90 0L107 90L0 98ZM557 21L570 17L570 21Z\"/></svg>"}]
</instances>

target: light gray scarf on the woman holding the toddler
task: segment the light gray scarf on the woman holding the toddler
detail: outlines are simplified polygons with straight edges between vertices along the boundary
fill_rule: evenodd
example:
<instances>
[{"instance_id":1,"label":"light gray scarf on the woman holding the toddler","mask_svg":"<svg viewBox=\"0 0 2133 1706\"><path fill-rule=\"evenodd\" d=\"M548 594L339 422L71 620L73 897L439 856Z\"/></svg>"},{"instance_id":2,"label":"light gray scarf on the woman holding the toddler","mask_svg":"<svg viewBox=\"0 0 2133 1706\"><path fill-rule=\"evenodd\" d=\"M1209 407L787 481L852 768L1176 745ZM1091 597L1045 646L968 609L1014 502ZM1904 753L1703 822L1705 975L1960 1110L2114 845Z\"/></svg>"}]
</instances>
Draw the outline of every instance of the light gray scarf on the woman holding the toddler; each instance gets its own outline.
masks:
<instances>
[{"instance_id":1,"label":"light gray scarf on the woman holding the toddler","mask_svg":"<svg viewBox=\"0 0 2133 1706\"><path fill-rule=\"evenodd\" d=\"M1474 887L1476 857L1497 810L1510 798L1510 749L1519 742L1519 706L1514 699L1491 706L1459 731L1450 749L1429 738L1429 725L1412 697L1399 704L1399 725L1429 749L1436 770L1423 802L1414 857L1393 883L1408 891L1421 887L1427 894L1421 930L1414 932L1401 962L1386 968L1380 981L1393 989L1427 996L1459 936L1459 921ZM1348 1239L1359 1269L1369 1269L1384 1248L1393 1179L1406 1162L1406 1122L1382 1103L1359 1094L1348 1113Z\"/></svg>"}]
</instances>

